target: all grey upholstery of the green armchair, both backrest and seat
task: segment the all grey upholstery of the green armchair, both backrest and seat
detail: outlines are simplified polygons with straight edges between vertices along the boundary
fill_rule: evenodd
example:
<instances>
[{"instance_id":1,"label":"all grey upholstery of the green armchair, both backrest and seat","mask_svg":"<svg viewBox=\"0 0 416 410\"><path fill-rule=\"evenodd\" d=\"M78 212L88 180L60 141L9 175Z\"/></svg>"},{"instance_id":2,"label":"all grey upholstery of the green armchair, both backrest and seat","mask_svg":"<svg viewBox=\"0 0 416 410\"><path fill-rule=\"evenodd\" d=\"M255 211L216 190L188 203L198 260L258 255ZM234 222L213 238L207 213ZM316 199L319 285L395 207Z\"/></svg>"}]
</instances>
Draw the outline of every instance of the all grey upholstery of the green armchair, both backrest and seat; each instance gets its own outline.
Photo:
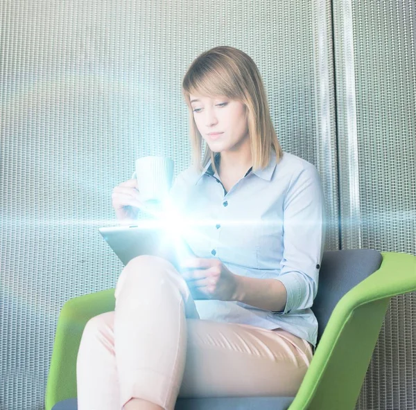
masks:
<instances>
[{"instance_id":1,"label":"all grey upholstery of the green armchair, both backrest and seat","mask_svg":"<svg viewBox=\"0 0 416 410\"><path fill-rule=\"evenodd\" d=\"M340 298L379 269L382 260L381 253L372 249L324 252L318 294L312 308L318 319L318 341ZM286 410L293 400L289 397L179 398L175 410ZM63 400L52 410L77 410L76 399Z\"/></svg>"}]
</instances>

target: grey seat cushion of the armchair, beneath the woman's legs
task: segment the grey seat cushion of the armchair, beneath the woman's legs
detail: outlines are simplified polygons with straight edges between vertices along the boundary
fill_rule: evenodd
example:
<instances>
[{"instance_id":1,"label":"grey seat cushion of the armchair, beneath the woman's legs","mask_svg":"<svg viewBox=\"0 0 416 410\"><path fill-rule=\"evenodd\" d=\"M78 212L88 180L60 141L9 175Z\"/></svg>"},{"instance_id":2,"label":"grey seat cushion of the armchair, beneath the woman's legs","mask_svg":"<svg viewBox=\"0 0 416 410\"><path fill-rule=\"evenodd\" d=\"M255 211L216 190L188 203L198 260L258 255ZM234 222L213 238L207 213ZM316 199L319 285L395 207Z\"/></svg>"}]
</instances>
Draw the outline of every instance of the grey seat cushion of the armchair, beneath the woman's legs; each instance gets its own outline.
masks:
<instances>
[{"instance_id":1,"label":"grey seat cushion of the armchair, beneath the woman's legs","mask_svg":"<svg viewBox=\"0 0 416 410\"><path fill-rule=\"evenodd\" d=\"M293 397L177 399L175 410L287 410ZM67 399L52 410L77 410L76 399Z\"/></svg>"}]
</instances>

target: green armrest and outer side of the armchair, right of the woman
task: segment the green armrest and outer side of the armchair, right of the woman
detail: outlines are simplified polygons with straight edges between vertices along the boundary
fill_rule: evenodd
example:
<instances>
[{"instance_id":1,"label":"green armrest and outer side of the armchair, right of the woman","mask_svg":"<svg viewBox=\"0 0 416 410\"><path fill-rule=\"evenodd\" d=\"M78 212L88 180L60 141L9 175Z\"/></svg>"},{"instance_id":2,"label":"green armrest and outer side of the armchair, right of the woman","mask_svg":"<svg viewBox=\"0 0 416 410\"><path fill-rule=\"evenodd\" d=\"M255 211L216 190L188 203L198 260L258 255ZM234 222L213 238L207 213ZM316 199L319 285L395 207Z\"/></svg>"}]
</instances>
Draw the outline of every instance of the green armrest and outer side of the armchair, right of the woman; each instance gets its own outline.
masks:
<instances>
[{"instance_id":1,"label":"green armrest and outer side of the armchair, right of the woman","mask_svg":"<svg viewBox=\"0 0 416 410\"><path fill-rule=\"evenodd\" d=\"M354 409L390 298L416 290L416 256L381 255L380 268L337 303L289 410Z\"/></svg>"}]
</instances>

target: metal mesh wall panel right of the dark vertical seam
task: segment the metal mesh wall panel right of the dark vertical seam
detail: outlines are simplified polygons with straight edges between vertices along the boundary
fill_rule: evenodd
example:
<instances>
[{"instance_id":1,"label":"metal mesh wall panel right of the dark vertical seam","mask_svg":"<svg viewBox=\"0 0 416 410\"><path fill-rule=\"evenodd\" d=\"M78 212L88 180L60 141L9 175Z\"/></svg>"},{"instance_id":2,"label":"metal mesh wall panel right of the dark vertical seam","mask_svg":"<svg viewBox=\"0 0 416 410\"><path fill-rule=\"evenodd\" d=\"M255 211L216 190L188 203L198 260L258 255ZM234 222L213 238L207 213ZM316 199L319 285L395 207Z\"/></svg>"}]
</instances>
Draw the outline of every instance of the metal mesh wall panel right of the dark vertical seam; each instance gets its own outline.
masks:
<instances>
[{"instance_id":1,"label":"metal mesh wall panel right of the dark vertical seam","mask_svg":"<svg viewBox=\"0 0 416 410\"><path fill-rule=\"evenodd\" d=\"M416 3L333 1L341 244L416 254ZM392 299L359 409L415 409L416 294Z\"/></svg>"}]
</instances>

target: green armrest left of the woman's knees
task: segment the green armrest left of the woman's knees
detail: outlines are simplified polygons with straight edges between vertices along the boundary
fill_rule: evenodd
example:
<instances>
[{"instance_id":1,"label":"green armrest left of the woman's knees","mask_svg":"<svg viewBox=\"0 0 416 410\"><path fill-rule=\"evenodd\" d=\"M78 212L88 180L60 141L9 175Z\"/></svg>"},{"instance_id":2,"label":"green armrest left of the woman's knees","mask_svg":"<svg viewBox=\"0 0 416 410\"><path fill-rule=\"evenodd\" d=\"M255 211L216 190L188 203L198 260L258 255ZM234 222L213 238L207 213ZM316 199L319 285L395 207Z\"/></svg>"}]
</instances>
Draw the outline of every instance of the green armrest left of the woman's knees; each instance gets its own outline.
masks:
<instances>
[{"instance_id":1,"label":"green armrest left of the woman's knees","mask_svg":"<svg viewBox=\"0 0 416 410\"><path fill-rule=\"evenodd\" d=\"M85 325L92 317L114 310L114 304L114 289L107 289L72 298L62 307L46 384L46 410L76 398L76 357Z\"/></svg>"}]
</instances>

